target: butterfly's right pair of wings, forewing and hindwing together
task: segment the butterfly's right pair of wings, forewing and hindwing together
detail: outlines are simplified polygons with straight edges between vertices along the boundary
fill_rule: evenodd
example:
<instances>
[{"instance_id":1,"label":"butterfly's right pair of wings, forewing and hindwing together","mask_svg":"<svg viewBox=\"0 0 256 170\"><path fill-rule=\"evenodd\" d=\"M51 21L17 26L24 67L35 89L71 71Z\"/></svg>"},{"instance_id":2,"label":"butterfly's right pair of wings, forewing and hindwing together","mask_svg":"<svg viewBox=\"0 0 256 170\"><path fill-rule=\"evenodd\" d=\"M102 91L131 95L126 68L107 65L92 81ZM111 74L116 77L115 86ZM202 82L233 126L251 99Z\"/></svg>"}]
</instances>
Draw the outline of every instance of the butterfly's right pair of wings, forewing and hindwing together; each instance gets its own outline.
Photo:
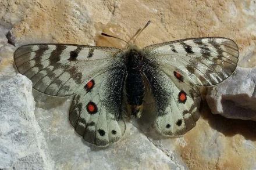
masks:
<instances>
[{"instance_id":1,"label":"butterfly's right pair of wings, forewing and hindwing together","mask_svg":"<svg viewBox=\"0 0 256 170\"><path fill-rule=\"evenodd\" d=\"M219 84L236 69L239 50L227 38L190 38L147 46L144 73L157 104L162 135L183 135L200 117L197 86ZM197 85L197 86L196 86Z\"/></svg>"}]
</instances>

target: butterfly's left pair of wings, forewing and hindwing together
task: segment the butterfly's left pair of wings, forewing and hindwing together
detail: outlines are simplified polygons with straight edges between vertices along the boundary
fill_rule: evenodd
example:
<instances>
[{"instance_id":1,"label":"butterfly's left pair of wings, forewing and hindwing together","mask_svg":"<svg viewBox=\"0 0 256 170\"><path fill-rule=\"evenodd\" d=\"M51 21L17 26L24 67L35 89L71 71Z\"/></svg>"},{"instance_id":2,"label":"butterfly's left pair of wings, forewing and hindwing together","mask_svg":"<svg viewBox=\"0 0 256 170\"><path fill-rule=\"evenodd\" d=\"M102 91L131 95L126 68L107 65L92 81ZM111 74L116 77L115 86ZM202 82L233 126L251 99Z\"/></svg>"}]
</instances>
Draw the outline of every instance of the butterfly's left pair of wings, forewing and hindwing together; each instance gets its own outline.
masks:
<instances>
[{"instance_id":1,"label":"butterfly's left pair of wings, forewing and hindwing together","mask_svg":"<svg viewBox=\"0 0 256 170\"><path fill-rule=\"evenodd\" d=\"M14 61L37 91L74 95L70 123L87 142L107 146L125 133L121 107L126 70L120 52L98 46L31 44L20 46Z\"/></svg>"}]
</instances>

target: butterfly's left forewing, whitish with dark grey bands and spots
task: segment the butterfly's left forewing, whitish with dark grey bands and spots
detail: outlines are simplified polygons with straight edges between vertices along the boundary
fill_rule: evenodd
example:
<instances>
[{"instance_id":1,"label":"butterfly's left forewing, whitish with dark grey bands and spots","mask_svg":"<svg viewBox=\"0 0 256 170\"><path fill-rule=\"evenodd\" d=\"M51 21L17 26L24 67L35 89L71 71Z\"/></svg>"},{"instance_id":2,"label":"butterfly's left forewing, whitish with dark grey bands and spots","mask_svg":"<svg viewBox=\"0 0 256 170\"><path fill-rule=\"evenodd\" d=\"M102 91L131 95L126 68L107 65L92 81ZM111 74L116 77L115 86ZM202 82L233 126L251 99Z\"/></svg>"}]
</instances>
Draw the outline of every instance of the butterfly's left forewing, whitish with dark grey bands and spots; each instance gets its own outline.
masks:
<instances>
[{"instance_id":1,"label":"butterfly's left forewing, whitish with dark grey bands and spots","mask_svg":"<svg viewBox=\"0 0 256 170\"><path fill-rule=\"evenodd\" d=\"M33 88L53 96L69 96L84 81L118 65L120 49L70 44L29 44L14 54L19 73Z\"/></svg>"}]
</instances>

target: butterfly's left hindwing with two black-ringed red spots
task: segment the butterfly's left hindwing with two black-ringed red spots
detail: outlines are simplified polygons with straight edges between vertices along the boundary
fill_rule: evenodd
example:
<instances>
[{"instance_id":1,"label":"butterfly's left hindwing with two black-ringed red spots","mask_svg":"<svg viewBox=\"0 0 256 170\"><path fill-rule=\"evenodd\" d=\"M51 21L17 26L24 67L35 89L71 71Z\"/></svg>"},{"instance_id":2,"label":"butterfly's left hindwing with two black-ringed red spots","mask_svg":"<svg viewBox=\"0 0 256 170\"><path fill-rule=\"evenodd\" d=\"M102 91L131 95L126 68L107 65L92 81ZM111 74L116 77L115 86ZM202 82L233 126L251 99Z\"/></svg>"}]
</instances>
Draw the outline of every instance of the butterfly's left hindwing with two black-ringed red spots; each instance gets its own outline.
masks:
<instances>
[{"instance_id":1,"label":"butterfly's left hindwing with two black-ringed red spots","mask_svg":"<svg viewBox=\"0 0 256 170\"><path fill-rule=\"evenodd\" d=\"M74 96L69 119L87 142L106 146L125 132L121 108L125 75L122 68L109 70L86 82Z\"/></svg>"}]
</instances>

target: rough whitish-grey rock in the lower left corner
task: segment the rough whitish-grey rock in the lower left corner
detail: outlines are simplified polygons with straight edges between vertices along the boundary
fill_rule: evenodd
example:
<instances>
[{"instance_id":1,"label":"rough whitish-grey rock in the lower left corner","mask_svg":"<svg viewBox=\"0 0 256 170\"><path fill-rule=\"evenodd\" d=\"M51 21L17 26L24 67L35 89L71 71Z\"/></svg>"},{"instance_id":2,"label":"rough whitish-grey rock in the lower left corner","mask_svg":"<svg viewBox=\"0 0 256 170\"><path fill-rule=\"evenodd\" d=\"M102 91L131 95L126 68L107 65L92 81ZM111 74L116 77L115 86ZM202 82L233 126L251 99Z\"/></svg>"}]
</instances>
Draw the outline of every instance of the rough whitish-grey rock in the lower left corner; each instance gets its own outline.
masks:
<instances>
[{"instance_id":1,"label":"rough whitish-grey rock in the lower left corner","mask_svg":"<svg viewBox=\"0 0 256 170\"><path fill-rule=\"evenodd\" d=\"M51 169L31 87L21 74L0 79L0 169Z\"/></svg>"}]
</instances>

